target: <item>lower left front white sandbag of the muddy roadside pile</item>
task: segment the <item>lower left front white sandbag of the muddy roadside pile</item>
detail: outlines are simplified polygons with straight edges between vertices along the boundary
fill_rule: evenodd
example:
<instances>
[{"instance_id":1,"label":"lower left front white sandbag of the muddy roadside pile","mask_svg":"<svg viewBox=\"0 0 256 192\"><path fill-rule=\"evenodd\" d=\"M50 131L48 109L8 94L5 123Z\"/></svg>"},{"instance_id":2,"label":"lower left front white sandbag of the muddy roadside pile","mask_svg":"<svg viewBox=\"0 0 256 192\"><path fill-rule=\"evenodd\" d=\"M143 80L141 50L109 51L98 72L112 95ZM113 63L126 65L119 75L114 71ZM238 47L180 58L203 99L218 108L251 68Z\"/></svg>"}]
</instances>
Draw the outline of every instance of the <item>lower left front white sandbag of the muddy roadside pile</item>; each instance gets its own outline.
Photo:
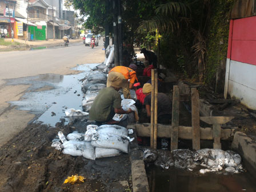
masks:
<instances>
[{"instance_id":1,"label":"lower left front white sandbag of the muddy roadside pile","mask_svg":"<svg viewBox=\"0 0 256 192\"><path fill-rule=\"evenodd\" d=\"M81 156L87 159L95 159L95 148L87 141L75 141L70 140L62 144L63 154L68 154L72 156Z\"/></svg>"}]
</instances>

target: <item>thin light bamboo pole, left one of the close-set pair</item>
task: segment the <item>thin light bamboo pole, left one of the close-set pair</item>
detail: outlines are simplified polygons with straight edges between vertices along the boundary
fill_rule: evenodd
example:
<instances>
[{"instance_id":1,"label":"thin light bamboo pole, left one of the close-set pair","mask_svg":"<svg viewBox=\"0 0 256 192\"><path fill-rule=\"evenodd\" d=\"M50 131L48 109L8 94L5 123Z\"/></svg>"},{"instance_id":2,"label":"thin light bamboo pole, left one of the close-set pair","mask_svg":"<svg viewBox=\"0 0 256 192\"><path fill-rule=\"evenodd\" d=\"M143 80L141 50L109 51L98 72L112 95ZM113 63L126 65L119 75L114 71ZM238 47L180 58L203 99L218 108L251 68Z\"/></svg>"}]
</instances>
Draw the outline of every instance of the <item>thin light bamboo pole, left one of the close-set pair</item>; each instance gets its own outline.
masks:
<instances>
[{"instance_id":1,"label":"thin light bamboo pole, left one of the close-set pair","mask_svg":"<svg viewBox=\"0 0 256 192\"><path fill-rule=\"evenodd\" d=\"M154 101L155 101L155 71L151 69L151 110L150 110L150 147L154 148Z\"/></svg>"}]
</instances>

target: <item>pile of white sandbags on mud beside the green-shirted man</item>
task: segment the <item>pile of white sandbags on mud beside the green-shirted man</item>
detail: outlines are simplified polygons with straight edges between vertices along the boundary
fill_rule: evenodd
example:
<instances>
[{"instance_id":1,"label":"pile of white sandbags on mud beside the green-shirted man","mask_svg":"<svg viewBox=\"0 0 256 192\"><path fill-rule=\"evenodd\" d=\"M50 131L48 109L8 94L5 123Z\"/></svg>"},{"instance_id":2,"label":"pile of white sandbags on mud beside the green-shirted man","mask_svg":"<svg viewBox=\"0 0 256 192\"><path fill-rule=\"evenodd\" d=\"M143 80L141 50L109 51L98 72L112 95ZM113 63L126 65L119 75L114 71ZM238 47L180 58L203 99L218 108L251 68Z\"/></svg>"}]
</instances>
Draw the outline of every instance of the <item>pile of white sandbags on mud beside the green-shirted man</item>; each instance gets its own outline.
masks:
<instances>
[{"instance_id":1,"label":"pile of white sandbags on mud beside the green-shirted man","mask_svg":"<svg viewBox=\"0 0 256 192\"><path fill-rule=\"evenodd\" d=\"M85 134L74 131L65 135L61 131L58 133L59 141L55 141L51 146L57 150L62 150L63 154L72 156L83 156L87 159L114 157L121 152L128 153L130 139L128 130L118 125L88 125ZM69 140L69 141L67 141Z\"/></svg>"}]
</instances>

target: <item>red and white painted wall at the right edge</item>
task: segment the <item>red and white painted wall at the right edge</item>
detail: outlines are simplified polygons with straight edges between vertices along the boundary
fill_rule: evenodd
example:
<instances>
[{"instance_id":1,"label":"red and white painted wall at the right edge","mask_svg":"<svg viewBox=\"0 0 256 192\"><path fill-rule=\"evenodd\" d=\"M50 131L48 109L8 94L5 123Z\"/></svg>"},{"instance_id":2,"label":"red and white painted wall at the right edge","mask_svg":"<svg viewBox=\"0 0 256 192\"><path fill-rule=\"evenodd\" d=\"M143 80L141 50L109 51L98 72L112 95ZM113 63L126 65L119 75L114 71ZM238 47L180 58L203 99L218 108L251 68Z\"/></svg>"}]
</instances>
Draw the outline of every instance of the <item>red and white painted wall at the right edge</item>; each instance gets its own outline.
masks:
<instances>
[{"instance_id":1,"label":"red and white painted wall at the right edge","mask_svg":"<svg viewBox=\"0 0 256 192\"><path fill-rule=\"evenodd\" d=\"M225 78L225 98L256 109L256 17L232 19Z\"/></svg>"}]
</instances>

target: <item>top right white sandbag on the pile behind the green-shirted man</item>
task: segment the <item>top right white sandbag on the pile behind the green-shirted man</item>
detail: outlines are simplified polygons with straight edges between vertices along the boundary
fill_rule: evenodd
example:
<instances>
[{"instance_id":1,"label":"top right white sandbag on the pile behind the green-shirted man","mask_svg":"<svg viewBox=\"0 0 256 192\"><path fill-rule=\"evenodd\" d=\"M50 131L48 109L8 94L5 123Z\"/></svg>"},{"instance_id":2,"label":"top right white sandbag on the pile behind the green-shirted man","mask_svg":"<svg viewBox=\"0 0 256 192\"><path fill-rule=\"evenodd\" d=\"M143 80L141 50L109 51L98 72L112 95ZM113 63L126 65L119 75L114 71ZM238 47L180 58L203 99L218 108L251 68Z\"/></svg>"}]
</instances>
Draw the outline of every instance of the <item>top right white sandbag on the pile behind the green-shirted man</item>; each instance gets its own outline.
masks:
<instances>
[{"instance_id":1,"label":"top right white sandbag on the pile behind the green-shirted man","mask_svg":"<svg viewBox=\"0 0 256 192\"><path fill-rule=\"evenodd\" d=\"M114 135L128 135L128 130L125 127L118 125L101 125L97 129L98 134L114 134Z\"/></svg>"}]
</instances>

